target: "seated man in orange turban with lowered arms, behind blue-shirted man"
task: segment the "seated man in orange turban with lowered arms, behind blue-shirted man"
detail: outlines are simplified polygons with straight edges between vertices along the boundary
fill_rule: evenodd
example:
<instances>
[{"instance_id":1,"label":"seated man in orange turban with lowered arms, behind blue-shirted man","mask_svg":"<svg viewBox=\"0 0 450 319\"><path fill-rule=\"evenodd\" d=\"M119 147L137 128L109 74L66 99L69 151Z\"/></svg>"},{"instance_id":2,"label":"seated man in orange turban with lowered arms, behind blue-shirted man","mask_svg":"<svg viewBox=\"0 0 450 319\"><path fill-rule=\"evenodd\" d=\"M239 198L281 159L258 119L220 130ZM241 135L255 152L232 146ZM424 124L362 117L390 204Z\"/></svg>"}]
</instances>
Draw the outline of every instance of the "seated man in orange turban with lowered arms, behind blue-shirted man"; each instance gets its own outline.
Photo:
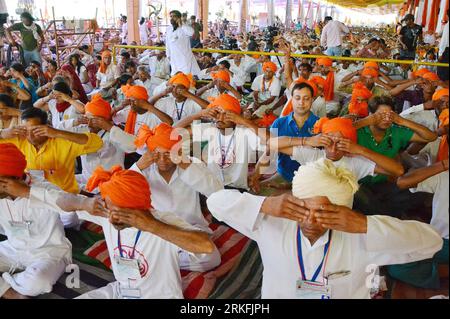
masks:
<instances>
[{"instance_id":1,"label":"seated man in orange turban with lowered arms, behind blue-shirted man","mask_svg":"<svg viewBox=\"0 0 450 319\"><path fill-rule=\"evenodd\" d=\"M281 81L275 77L277 66L271 61L263 63L264 74L255 78L252 83L253 103L249 111L253 112L255 118L262 118L265 114L273 111L281 93Z\"/></svg>"}]
</instances>

